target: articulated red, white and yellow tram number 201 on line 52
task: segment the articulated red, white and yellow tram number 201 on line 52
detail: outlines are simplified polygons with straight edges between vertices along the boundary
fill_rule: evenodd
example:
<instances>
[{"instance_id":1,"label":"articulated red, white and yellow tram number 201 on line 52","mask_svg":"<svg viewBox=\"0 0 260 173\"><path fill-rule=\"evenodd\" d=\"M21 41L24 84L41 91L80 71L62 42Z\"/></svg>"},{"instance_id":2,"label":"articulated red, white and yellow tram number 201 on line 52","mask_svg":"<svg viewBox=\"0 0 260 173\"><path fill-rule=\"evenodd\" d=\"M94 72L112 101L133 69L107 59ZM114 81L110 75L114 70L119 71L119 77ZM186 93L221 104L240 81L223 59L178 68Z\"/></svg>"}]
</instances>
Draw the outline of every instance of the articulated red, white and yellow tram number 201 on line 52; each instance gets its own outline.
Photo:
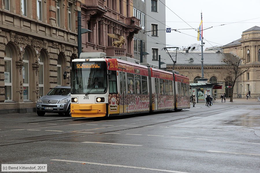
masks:
<instances>
[{"instance_id":1,"label":"articulated red, white and yellow tram number 201 on line 52","mask_svg":"<svg viewBox=\"0 0 260 173\"><path fill-rule=\"evenodd\" d=\"M189 78L84 52L72 60L73 117L102 117L190 108Z\"/></svg>"}]
</instances>

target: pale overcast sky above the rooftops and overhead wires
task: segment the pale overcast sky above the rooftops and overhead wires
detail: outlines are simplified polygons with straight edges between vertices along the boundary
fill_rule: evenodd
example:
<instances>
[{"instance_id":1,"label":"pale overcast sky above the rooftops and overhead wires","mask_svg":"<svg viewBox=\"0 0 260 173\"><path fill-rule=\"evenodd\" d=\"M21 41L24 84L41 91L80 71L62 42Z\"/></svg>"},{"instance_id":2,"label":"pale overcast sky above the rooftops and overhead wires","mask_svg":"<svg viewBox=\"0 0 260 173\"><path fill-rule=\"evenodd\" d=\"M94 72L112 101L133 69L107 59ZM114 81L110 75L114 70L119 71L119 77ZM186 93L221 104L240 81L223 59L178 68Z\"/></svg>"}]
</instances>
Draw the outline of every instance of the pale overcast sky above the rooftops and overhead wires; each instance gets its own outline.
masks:
<instances>
[{"instance_id":1,"label":"pale overcast sky above the rooftops and overhead wires","mask_svg":"<svg viewBox=\"0 0 260 173\"><path fill-rule=\"evenodd\" d=\"M191 28L199 27L202 12L203 29L212 27L203 30L203 49L223 46L241 38L243 31L260 27L259 9L260 0L166 0L166 28L179 29L181 32L166 33L166 44L179 48L200 44L197 32Z\"/></svg>"}]
</instances>

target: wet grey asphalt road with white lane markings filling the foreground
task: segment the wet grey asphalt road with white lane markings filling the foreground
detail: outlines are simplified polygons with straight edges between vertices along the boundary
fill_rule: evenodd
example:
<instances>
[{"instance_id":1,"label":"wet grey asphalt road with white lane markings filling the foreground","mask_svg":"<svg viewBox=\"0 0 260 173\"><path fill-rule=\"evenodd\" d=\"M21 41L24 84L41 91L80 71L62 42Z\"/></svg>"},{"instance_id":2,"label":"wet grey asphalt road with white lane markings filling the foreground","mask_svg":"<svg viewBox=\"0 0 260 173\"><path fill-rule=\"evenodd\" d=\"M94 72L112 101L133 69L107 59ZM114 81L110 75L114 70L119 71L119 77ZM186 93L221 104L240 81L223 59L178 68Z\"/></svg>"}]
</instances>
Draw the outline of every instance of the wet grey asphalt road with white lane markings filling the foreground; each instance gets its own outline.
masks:
<instances>
[{"instance_id":1,"label":"wet grey asphalt road with white lane markings filling the foreground","mask_svg":"<svg viewBox=\"0 0 260 173\"><path fill-rule=\"evenodd\" d=\"M0 163L48 172L259 173L259 104L102 119L0 115Z\"/></svg>"}]
</instances>

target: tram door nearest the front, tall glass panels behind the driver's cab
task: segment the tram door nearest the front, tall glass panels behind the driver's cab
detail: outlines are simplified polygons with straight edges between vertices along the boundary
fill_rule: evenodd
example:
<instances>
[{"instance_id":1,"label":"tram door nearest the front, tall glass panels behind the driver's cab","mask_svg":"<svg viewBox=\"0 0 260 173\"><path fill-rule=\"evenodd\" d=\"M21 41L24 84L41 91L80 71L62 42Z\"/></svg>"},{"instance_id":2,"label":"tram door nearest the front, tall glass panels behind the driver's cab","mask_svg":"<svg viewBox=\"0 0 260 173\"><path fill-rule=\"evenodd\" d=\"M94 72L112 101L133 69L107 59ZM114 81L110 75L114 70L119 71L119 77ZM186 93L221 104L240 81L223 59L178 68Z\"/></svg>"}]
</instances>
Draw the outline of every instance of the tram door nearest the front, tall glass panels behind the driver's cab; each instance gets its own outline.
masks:
<instances>
[{"instance_id":1,"label":"tram door nearest the front, tall glass panels behind the driver's cab","mask_svg":"<svg viewBox=\"0 0 260 173\"><path fill-rule=\"evenodd\" d=\"M127 112L126 69L118 68L120 87L120 113Z\"/></svg>"}]
</instances>

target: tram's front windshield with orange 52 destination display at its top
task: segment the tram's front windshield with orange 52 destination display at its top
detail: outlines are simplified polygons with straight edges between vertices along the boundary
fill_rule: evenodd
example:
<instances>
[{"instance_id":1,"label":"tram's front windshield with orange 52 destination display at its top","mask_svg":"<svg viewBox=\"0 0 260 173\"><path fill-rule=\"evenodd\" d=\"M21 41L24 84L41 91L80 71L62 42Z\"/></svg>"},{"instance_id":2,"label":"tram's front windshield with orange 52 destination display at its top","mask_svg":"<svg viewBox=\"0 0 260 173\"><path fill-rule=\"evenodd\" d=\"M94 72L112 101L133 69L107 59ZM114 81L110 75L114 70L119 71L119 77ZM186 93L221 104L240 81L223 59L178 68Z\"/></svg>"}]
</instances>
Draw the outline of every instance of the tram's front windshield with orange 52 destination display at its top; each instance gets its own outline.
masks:
<instances>
[{"instance_id":1,"label":"tram's front windshield with orange 52 destination display at its top","mask_svg":"<svg viewBox=\"0 0 260 173\"><path fill-rule=\"evenodd\" d=\"M105 62L73 62L71 94L102 94L107 91Z\"/></svg>"}]
</instances>

